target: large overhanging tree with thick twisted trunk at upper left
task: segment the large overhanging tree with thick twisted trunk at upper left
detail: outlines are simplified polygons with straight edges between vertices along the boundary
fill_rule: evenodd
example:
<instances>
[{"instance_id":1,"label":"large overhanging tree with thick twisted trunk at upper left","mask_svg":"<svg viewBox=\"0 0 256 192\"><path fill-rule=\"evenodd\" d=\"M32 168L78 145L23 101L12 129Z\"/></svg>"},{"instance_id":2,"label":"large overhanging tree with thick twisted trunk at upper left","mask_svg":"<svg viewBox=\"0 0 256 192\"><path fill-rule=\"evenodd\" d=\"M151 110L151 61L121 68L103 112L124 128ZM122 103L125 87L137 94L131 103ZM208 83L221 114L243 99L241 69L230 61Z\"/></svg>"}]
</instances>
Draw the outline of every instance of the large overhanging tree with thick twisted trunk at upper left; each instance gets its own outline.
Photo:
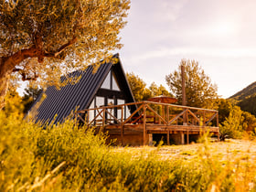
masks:
<instances>
[{"instance_id":1,"label":"large overhanging tree with thick twisted trunk at upper left","mask_svg":"<svg viewBox=\"0 0 256 192\"><path fill-rule=\"evenodd\" d=\"M52 82L121 48L130 0L0 0L0 109L15 76Z\"/></svg>"}]
</instances>

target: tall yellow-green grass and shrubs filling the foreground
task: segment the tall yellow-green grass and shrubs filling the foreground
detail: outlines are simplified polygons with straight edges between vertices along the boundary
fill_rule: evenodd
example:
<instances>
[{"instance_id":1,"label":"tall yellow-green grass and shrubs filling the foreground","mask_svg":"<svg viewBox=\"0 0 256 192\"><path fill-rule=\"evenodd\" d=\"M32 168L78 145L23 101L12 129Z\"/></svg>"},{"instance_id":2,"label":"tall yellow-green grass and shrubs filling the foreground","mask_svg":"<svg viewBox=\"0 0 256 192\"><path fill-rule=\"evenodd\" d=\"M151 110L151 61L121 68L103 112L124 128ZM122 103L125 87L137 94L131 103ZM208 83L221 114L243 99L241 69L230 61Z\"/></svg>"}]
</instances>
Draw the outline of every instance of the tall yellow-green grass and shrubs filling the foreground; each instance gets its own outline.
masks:
<instances>
[{"instance_id":1,"label":"tall yellow-green grass and shrubs filling the foreground","mask_svg":"<svg viewBox=\"0 0 256 192\"><path fill-rule=\"evenodd\" d=\"M67 120L42 128L0 112L0 191L248 191L255 165L220 161L208 144L196 158L117 153L106 136ZM207 141L207 140L206 140Z\"/></svg>"}]
</instances>

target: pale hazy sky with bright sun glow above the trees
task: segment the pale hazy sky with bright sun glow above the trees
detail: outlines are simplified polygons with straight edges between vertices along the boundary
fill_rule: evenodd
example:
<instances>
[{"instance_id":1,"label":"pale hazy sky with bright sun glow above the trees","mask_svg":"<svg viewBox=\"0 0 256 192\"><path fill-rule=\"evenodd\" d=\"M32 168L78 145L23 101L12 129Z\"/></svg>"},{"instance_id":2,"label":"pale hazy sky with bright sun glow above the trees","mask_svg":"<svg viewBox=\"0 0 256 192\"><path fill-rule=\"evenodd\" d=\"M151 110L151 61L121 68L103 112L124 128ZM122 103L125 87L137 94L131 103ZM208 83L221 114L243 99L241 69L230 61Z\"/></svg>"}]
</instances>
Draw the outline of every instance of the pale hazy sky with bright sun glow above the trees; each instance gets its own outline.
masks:
<instances>
[{"instance_id":1,"label":"pale hazy sky with bright sun glow above the trees","mask_svg":"<svg viewBox=\"0 0 256 192\"><path fill-rule=\"evenodd\" d=\"M256 80L255 9L255 0L131 0L123 68L168 89L165 76L196 59L229 98Z\"/></svg>"}]
</instances>

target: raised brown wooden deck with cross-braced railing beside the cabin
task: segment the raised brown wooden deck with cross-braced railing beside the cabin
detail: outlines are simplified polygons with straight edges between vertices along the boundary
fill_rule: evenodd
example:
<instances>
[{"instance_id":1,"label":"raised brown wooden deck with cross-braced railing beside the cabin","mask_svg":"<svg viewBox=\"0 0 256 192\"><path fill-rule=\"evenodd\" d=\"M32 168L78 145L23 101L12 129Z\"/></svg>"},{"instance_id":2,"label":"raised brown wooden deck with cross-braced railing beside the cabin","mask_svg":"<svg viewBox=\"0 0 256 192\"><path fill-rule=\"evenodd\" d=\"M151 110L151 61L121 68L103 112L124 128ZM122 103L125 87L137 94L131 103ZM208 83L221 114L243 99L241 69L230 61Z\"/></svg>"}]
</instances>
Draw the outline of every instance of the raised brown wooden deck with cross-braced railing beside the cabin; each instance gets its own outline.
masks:
<instances>
[{"instance_id":1,"label":"raised brown wooden deck with cross-braced railing beside the cabin","mask_svg":"<svg viewBox=\"0 0 256 192\"><path fill-rule=\"evenodd\" d=\"M152 144L155 134L165 134L167 144L170 140L189 144L191 138L207 132L219 140L219 112L215 110L140 101L79 111L76 118L124 145Z\"/></svg>"}]
</instances>

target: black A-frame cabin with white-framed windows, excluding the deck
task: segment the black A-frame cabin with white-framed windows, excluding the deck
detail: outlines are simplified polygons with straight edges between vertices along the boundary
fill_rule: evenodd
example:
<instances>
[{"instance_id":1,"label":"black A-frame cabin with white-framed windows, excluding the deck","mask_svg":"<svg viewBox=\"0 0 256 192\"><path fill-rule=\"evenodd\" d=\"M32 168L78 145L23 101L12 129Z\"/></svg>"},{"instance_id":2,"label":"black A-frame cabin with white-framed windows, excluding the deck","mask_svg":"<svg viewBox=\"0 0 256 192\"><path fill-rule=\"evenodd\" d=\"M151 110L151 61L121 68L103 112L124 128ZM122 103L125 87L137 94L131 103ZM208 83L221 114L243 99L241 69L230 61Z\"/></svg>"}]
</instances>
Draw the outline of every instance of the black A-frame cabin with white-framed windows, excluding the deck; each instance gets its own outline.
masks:
<instances>
[{"instance_id":1,"label":"black A-frame cabin with white-framed windows, excluding the deck","mask_svg":"<svg viewBox=\"0 0 256 192\"><path fill-rule=\"evenodd\" d=\"M101 64L100 68L93 73L92 66L85 71L74 71L69 76L80 76L76 84L68 84L57 90L55 86L48 87L45 91L46 98L37 108L36 121L41 123L59 123L67 118L70 112L86 110L105 105L117 105L134 102L133 93L129 87L123 66L116 54L112 61ZM37 98L33 107L40 101L42 94ZM125 115L129 116L134 107L127 108ZM118 110L112 111L113 115L119 116ZM97 112L91 112L93 119Z\"/></svg>"}]
</instances>

